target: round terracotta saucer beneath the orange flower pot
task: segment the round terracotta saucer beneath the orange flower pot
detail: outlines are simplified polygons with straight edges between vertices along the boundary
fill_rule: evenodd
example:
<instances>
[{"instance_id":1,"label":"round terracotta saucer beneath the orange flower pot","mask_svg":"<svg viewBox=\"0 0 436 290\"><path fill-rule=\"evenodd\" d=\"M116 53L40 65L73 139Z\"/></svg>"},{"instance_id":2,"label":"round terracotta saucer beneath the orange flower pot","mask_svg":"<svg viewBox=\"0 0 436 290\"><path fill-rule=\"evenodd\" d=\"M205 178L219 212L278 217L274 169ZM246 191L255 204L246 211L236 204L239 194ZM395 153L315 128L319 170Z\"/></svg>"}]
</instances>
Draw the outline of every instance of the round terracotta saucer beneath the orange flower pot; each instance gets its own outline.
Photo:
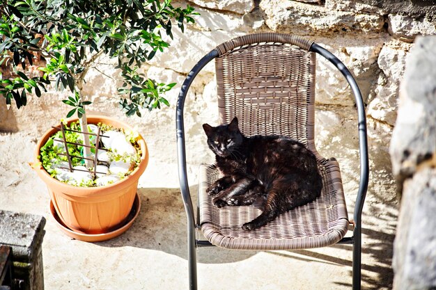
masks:
<instances>
[{"instance_id":1,"label":"round terracotta saucer beneath the orange flower pot","mask_svg":"<svg viewBox=\"0 0 436 290\"><path fill-rule=\"evenodd\" d=\"M74 239L87 242L107 241L109 239L115 238L116 236L119 236L120 234L123 234L125 231L127 231L127 229L129 229L133 221L137 218L140 209L141 199L139 198L139 195L137 193L134 198L132 210L127 216L127 221L123 223L123 225L121 225L117 229L103 234L86 234L85 232L73 231L69 227L65 226L65 224L61 221L61 218L59 218L58 214L56 213L52 200L50 200L50 213L52 214L54 220L56 220L56 224L62 230L62 232Z\"/></svg>"}]
</instances>

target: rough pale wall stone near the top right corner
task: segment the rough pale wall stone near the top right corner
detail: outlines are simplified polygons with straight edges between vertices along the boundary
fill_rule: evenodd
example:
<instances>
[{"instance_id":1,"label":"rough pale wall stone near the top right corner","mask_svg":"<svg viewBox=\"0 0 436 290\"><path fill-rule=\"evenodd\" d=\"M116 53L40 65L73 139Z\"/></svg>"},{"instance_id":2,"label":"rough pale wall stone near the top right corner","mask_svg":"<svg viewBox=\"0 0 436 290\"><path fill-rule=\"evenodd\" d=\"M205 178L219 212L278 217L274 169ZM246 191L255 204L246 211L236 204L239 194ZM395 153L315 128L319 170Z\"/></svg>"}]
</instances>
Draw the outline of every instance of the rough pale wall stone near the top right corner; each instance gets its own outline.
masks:
<instances>
[{"instance_id":1,"label":"rough pale wall stone near the top right corner","mask_svg":"<svg viewBox=\"0 0 436 290\"><path fill-rule=\"evenodd\" d=\"M435 35L435 22L427 18L414 19L405 15L388 15L388 31L401 40L413 42L417 35Z\"/></svg>"}]
</instances>

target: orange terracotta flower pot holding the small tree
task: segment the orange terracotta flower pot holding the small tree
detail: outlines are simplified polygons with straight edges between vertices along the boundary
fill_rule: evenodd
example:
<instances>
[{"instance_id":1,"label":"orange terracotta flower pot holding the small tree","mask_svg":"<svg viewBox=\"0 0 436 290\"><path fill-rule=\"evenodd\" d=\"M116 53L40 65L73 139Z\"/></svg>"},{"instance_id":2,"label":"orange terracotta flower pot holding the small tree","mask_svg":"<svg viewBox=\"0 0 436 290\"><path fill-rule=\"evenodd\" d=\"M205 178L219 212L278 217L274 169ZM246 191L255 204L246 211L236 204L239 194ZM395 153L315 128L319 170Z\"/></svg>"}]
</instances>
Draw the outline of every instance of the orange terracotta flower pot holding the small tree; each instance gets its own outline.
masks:
<instances>
[{"instance_id":1,"label":"orange terracotta flower pot holding the small tree","mask_svg":"<svg viewBox=\"0 0 436 290\"><path fill-rule=\"evenodd\" d=\"M68 124L77 119L68 120ZM88 124L99 122L109 124L115 128L130 129L123 122L91 115L88 116ZM47 140L57 132L49 129L39 140L35 149L35 163L38 164L40 148ZM51 177L42 165L33 166L47 188L54 209L59 218L69 229L86 234L102 234L111 232L126 223L127 216L132 210L132 205L137 194L139 177L141 177L148 164L148 150L146 142L139 135L137 142L141 147L141 162L131 175L119 182L106 186L79 187L71 186Z\"/></svg>"}]
</instances>

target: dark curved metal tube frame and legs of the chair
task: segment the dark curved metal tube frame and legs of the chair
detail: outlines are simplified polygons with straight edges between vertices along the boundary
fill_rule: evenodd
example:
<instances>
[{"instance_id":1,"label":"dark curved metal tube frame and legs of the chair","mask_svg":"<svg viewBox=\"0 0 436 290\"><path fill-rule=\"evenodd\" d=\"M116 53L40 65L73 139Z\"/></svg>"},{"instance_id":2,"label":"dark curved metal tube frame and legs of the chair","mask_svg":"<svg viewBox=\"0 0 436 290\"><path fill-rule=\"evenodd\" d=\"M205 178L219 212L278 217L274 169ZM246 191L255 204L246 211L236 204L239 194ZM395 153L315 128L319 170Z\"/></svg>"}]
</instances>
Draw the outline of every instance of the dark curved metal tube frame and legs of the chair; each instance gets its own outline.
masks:
<instances>
[{"instance_id":1,"label":"dark curved metal tube frame and legs of the chair","mask_svg":"<svg viewBox=\"0 0 436 290\"><path fill-rule=\"evenodd\" d=\"M281 39L281 33L256 33L255 36L265 35L265 39ZM276 37L277 36L277 37ZM238 38L235 38L235 40ZM224 42L223 45L232 45L232 41ZM357 199L355 203L354 211L354 229L352 237L344 237L338 243L351 243L353 245L352 250L352 289L358 290L361 288L361 214L364 207L364 201L366 197L366 191L368 189L368 145L367 145L367 133L366 133L366 114L364 100L361 96L359 86L347 67L331 52L327 51L320 45L317 45L305 38L296 37L295 43L290 43L301 47L309 47L308 51L313 51L316 54L326 58L332 63L348 81L350 88L355 97L355 103L357 106L358 117L358 134L359 134L359 158L360 158L360 181L359 190L357 193ZM196 239L196 230L200 227L199 220L196 221L194 206L192 204L191 195L189 193L189 185L187 182L187 167L186 167L186 154L185 154L185 125L183 120L183 111L185 107L185 99L187 92L192 82L194 81L198 72L207 65L210 61L220 56L221 51L218 46L212 49L208 54L203 56L200 61L192 68L187 75L180 94L178 96L177 108L176 108L176 135L177 135L177 150L178 150L178 172L180 179L180 191L182 199L185 205L185 211L187 214L187 248L188 248L188 263L189 263L189 289L197 289L197 273L196 273L196 248L212 246L209 241L201 241ZM198 216L198 208L197 208Z\"/></svg>"}]
</instances>

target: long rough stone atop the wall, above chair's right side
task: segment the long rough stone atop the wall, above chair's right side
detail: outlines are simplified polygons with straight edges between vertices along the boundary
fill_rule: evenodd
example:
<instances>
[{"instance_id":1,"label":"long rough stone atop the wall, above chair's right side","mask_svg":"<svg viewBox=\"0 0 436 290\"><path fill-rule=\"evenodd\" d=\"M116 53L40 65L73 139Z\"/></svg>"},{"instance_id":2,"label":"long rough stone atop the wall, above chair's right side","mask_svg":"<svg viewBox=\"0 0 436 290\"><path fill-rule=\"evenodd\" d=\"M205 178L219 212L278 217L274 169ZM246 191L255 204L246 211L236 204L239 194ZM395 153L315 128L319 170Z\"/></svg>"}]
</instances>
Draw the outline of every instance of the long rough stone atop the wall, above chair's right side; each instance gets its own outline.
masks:
<instances>
[{"instance_id":1,"label":"long rough stone atop the wall, above chair's right side","mask_svg":"<svg viewBox=\"0 0 436 290\"><path fill-rule=\"evenodd\" d=\"M265 12L265 24L270 29L297 35L336 35L345 31L380 33L384 25L382 15L332 11L288 0L261 1L260 8Z\"/></svg>"}]
</instances>

